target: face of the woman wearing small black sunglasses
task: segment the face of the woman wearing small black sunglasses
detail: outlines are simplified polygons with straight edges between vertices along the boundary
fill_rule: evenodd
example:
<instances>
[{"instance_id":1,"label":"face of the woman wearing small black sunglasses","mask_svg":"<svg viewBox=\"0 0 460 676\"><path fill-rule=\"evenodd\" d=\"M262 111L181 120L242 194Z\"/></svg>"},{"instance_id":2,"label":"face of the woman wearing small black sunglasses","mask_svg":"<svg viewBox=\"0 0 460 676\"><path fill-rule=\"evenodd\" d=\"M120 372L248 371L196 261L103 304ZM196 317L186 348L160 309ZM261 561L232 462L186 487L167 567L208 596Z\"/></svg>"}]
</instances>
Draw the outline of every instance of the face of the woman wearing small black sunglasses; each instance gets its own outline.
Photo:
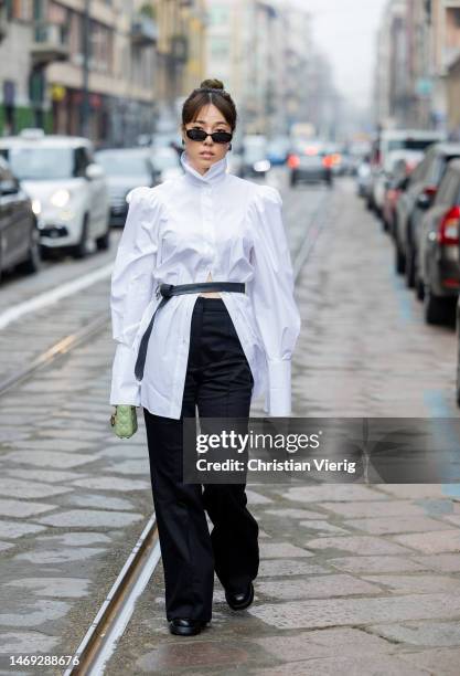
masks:
<instances>
[{"instance_id":1,"label":"face of the woman wearing small black sunglasses","mask_svg":"<svg viewBox=\"0 0 460 676\"><path fill-rule=\"evenodd\" d=\"M207 136L203 141L194 141L185 134L185 129L193 128L204 129L208 134L212 134L214 131L232 133L232 127L226 122L221 110L213 104L208 104L207 106L203 106L203 108L201 108L194 122L186 124L185 127L182 128L184 149L189 157L190 163L197 171L200 171L200 173L205 173L211 165L214 165L214 162L217 162L225 157L229 142L215 144L211 136Z\"/></svg>"}]
</instances>

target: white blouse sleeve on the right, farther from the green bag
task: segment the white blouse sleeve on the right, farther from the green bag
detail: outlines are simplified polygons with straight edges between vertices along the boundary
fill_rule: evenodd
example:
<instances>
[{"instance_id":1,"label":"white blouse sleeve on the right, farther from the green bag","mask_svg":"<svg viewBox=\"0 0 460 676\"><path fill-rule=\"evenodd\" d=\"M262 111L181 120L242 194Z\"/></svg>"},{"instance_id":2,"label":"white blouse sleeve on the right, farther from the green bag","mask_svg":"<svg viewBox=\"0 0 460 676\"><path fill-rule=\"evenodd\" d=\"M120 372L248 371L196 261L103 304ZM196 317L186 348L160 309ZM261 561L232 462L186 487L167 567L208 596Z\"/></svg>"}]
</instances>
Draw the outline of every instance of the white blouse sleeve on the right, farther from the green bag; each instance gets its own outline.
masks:
<instances>
[{"instance_id":1,"label":"white blouse sleeve on the right, farther from the green bag","mask_svg":"<svg viewBox=\"0 0 460 676\"><path fill-rule=\"evenodd\" d=\"M254 203L248 294L264 342L268 368L265 412L291 414L291 357L301 319L293 298L293 273L282 222L282 199L270 186L259 186Z\"/></svg>"}]
</instances>

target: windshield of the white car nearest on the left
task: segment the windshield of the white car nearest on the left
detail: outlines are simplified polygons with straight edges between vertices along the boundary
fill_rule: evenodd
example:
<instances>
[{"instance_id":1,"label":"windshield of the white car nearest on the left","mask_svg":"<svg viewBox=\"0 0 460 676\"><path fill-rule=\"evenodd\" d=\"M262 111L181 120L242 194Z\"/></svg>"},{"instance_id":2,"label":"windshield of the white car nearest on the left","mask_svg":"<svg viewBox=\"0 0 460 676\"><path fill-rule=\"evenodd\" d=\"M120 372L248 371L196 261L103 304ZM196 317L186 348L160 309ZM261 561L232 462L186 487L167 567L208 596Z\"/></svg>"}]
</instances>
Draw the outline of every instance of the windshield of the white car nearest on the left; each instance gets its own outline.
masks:
<instances>
[{"instance_id":1,"label":"windshield of the white car nearest on the left","mask_svg":"<svg viewBox=\"0 0 460 676\"><path fill-rule=\"evenodd\" d=\"M73 148L2 148L0 152L10 162L20 180L45 181L75 176Z\"/></svg>"}]
</instances>

